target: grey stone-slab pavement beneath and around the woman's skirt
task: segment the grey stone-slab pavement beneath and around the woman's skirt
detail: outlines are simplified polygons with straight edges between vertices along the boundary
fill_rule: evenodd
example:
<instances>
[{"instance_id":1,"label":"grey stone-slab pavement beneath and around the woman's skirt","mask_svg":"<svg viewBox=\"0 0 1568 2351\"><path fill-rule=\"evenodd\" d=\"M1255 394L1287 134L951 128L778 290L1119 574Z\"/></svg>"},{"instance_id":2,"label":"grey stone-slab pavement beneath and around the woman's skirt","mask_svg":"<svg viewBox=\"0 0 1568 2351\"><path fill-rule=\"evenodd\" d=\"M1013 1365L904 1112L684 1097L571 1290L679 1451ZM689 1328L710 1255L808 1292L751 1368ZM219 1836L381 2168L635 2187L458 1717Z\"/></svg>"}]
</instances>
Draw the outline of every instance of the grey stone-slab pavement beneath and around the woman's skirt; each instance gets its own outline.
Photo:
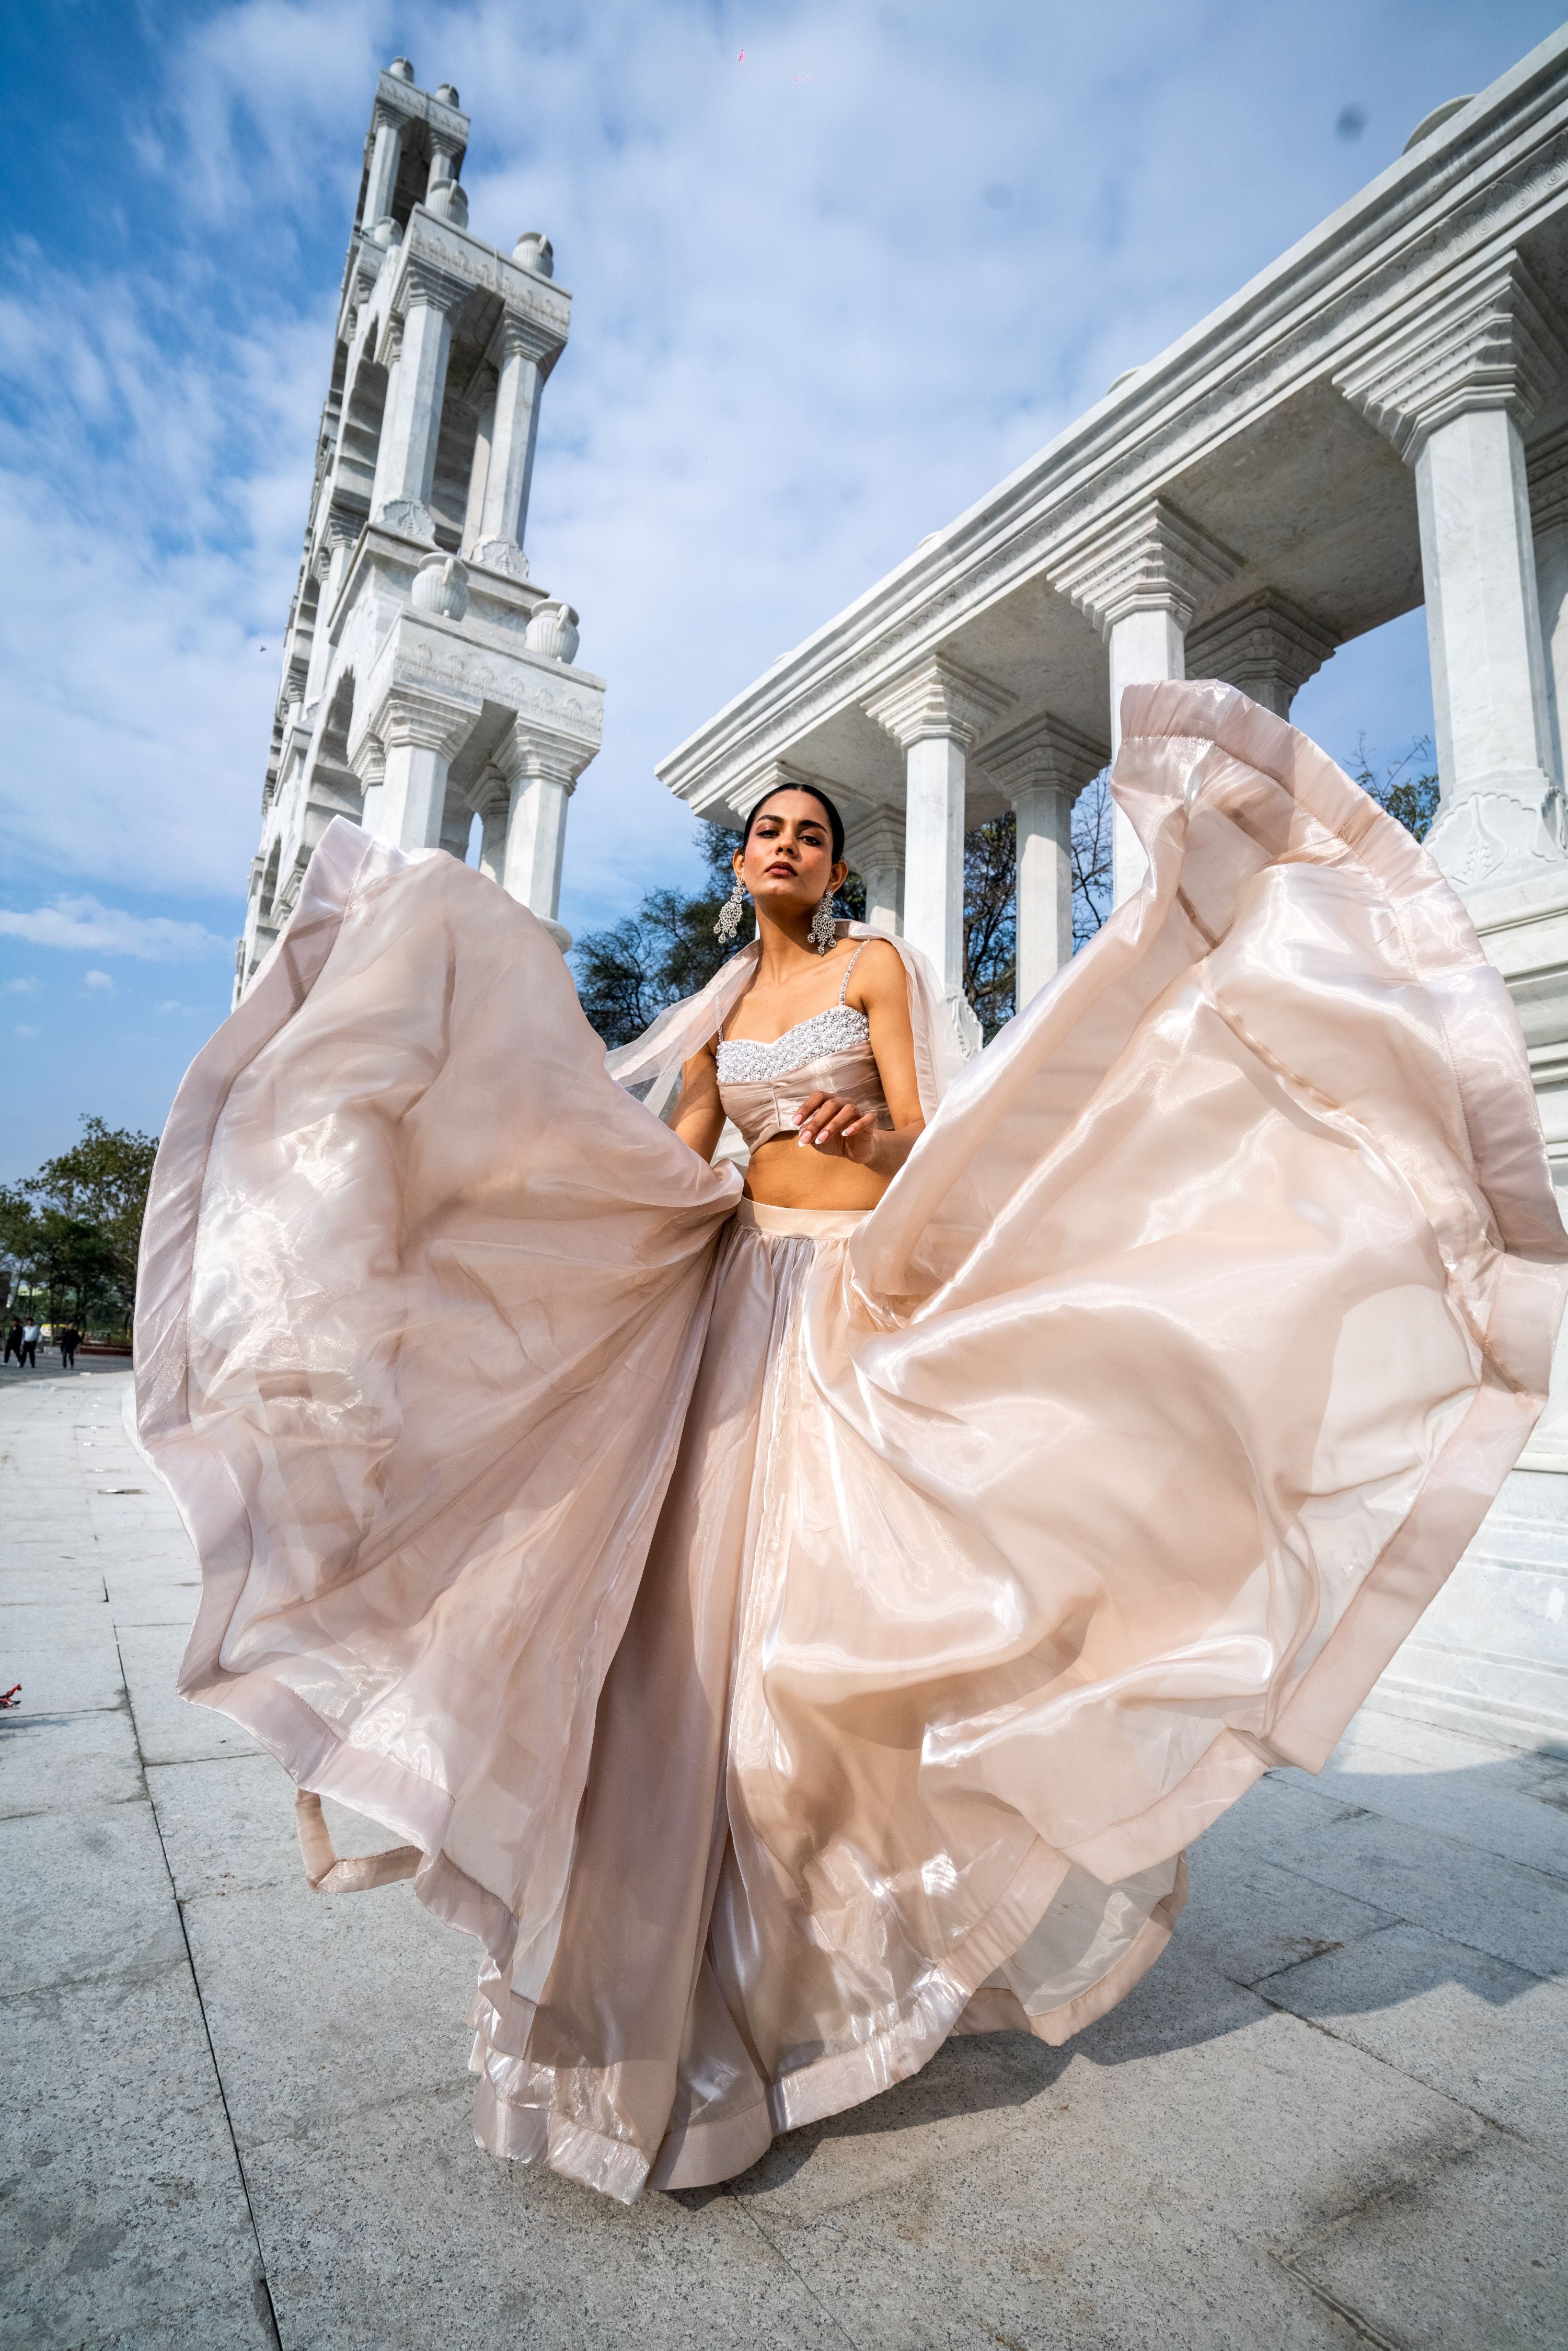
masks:
<instances>
[{"instance_id":1,"label":"grey stone-slab pavement beneath and around the woman's skirt","mask_svg":"<svg viewBox=\"0 0 1568 2351\"><path fill-rule=\"evenodd\" d=\"M470 1947L313 1897L282 1773L174 1697L195 1563L125 1387L0 1385L0 2344L1568 2342L1568 1761L1368 1712L1072 2048L959 2041L623 2210L475 2149Z\"/></svg>"}]
</instances>

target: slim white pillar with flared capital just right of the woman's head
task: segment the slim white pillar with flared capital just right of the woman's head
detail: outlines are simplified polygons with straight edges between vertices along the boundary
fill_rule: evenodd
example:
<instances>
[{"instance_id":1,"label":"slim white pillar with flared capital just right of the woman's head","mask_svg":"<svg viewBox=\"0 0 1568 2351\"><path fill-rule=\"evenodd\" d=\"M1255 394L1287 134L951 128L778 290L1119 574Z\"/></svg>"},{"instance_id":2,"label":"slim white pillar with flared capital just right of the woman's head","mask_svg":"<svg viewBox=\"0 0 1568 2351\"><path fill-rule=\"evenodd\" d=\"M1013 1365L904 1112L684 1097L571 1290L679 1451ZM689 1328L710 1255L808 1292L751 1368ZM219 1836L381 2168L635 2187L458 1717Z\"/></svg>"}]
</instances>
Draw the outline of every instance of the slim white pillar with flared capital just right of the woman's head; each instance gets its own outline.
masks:
<instances>
[{"instance_id":1,"label":"slim white pillar with flared capital just right of the woman's head","mask_svg":"<svg viewBox=\"0 0 1568 2351\"><path fill-rule=\"evenodd\" d=\"M905 755L903 936L936 966L954 1018L964 1002L964 762L1011 701L933 654L865 703Z\"/></svg>"}]
</instances>

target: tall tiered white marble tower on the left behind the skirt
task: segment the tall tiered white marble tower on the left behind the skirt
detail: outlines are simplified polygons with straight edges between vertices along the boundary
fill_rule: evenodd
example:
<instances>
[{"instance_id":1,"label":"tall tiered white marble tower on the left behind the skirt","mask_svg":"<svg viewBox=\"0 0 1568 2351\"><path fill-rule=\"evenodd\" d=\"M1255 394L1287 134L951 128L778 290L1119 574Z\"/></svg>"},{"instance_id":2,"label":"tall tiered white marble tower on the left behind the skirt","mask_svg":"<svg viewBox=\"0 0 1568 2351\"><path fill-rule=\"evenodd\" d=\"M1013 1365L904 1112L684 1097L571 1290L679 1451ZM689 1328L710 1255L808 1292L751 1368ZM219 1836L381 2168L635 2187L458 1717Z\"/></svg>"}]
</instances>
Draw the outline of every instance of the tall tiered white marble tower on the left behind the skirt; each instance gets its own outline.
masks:
<instances>
[{"instance_id":1,"label":"tall tiered white marble tower on the left behind the skirt","mask_svg":"<svg viewBox=\"0 0 1568 2351\"><path fill-rule=\"evenodd\" d=\"M334 816L480 863L555 929L567 802L604 679L522 552L545 376L571 296L545 237L468 230L468 115L381 75L348 240L310 522L284 637L235 999Z\"/></svg>"}]
</instances>

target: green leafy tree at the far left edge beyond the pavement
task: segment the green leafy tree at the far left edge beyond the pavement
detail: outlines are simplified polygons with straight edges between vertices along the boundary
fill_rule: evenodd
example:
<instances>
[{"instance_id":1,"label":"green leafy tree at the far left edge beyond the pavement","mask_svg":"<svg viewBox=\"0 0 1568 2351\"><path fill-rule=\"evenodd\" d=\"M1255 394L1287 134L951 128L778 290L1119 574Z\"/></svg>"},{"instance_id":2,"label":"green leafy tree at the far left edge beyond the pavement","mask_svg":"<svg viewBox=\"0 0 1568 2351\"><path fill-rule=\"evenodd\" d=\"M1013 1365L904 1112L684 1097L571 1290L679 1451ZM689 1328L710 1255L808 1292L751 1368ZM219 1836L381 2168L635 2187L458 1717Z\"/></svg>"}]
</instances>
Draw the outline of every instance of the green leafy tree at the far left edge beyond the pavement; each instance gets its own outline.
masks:
<instances>
[{"instance_id":1,"label":"green leafy tree at the far left edge beyond the pavement","mask_svg":"<svg viewBox=\"0 0 1568 2351\"><path fill-rule=\"evenodd\" d=\"M155 1152L155 1136L82 1119L80 1143L0 1187L0 1267L45 1321L129 1324Z\"/></svg>"}]
</instances>

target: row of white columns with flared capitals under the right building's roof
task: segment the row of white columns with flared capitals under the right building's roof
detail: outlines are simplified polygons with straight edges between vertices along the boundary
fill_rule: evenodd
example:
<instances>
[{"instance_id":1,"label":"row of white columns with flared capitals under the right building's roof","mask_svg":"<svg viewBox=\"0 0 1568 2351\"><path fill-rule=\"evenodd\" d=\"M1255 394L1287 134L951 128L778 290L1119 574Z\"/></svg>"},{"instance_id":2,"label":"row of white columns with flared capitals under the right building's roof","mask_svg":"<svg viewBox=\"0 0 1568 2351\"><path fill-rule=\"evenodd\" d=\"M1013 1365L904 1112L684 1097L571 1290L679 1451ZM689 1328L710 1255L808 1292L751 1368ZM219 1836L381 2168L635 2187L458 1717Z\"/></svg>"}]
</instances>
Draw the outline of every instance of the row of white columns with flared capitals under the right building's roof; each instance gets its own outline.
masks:
<instances>
[{"instance_id":1,"label":"row of white columns with flared capitals under the right building's roof","mask_svg":"<svg viewBox=\"0 0 1568 2351\"><path fill-rule=\"evenodd\" d=\"M1345 364L1333 383L1415 475L1441 804L1429 849L1467 893L1563 870L1568 726L1568 430L1526 458L1523 435L1568 346L1516 252L1450 282ZM851 860L882 919L964 976L964 795L978 764L1018 820L1018 1004L1072 955L1072 802L1114 757L1131 684L1222 677L1288 717L1342 642L1288 597L1253 588L1213 614L1244 569L1237 552L1161 494L1124 510L1046 567L1095 625L1107 658L1107 743L1048 710L997 731L1013 696L931 654L865 712L905 755L903 839L893 809L851 825ZM1194 614L1213 616L1194 628ZM778 766L769 773L788 773ZM867 870L870 856L870 870ZM1114 811L1114 900L1145 870Z\"/></svg>"}]
</instances>

